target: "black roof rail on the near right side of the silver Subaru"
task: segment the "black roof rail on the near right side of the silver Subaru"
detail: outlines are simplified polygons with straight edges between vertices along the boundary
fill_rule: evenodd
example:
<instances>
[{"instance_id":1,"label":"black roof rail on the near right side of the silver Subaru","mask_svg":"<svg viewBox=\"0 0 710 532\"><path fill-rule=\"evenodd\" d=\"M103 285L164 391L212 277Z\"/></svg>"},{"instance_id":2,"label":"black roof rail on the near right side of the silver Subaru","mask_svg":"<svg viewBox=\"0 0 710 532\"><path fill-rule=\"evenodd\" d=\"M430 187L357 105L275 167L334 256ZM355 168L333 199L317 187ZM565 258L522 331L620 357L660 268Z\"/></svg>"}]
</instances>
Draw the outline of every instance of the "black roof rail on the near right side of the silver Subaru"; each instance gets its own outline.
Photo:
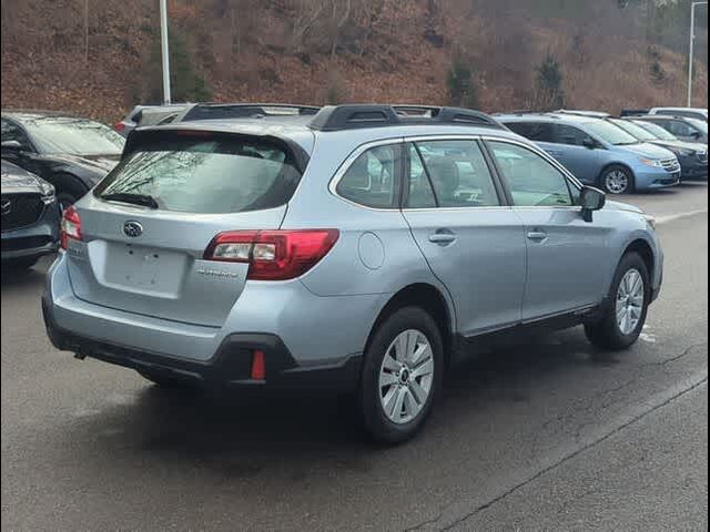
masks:
<instances>
[{"instance_id":1,"label":"black roof rail on the near right side of the silver Subaru","mask_svg":"<svg viewBox=\"0 0 710 532\"><path fill-rule=\"evenodd\" d=\"M476 125L504 129L493 116L479 111L432 105L346 104L323 108L311 122L317 131L346 131L394 125Z\"/></svg>"}]
</instances>

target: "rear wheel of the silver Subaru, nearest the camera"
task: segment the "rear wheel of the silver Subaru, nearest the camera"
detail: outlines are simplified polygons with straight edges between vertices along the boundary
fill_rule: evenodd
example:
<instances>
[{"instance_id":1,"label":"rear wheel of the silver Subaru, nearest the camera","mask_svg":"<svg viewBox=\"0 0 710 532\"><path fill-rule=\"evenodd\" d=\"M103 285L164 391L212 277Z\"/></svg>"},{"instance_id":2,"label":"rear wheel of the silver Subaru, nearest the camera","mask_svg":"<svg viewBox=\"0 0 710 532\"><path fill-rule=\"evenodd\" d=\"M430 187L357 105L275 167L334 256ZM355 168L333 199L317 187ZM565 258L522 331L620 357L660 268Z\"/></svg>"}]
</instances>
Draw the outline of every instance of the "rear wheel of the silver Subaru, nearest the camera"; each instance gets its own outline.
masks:
<instances>
[{"instance_id":1,"label":"rear wheel of the silver Subaru, nearest the camera","mask_svg":"<svg viewBox=\"0 0 710 532\"><path fill-rule=\"evenodd\" d=\"M432 411L444 370L442 334L432 316L418 307L389 315L375 329L365 352L358 392L365 431L387 444L414 437ZM381 385L384 381L388 383Z\"/></svg>"}]
</instances>

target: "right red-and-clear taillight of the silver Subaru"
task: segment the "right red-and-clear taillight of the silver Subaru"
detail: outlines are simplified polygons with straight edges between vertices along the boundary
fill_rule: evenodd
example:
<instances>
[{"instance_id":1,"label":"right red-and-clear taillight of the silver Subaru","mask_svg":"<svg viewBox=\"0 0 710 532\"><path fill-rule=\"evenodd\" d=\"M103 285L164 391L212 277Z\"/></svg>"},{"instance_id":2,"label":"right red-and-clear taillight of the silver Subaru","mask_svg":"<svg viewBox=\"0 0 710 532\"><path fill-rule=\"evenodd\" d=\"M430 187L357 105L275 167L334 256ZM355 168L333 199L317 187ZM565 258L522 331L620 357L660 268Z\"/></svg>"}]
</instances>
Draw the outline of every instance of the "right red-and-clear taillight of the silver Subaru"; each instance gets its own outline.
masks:
<instances>
[{"instance_id":1,"label":"right red-and-clear taillight of the silver Subaru","mask_svg":"<svg viewBox=\"0 0 710 532\"><path fill-rule=\"evenodd\" d=\"M204 258L246 263L250 279L287 280L318 264L338 236L337 229L234 231L219 234Z\"/></svg>"}]
</instances>

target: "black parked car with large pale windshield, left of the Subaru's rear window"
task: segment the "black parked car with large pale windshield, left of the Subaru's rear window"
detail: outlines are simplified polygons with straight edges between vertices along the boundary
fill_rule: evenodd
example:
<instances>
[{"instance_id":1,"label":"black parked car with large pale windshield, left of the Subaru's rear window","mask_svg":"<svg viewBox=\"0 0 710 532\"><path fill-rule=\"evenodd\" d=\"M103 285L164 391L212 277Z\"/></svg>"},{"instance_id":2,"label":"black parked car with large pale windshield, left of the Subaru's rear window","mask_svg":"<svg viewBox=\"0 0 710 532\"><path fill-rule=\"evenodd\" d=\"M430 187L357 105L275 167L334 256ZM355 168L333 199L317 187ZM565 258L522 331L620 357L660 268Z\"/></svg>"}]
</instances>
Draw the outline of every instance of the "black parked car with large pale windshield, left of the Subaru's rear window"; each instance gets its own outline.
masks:
<instances>
[{"instance_id":1,"label":"black parked car with large pale windshield, left of the Subaru's rear window","mask_svg":"<svg viewBox=\"0 0 710 532\"><path fill-rule=\"evenodd\" d=\"M57 188L72 205L113 168L124 139L93 120L41 111L2 112L2 158Z\"/></svg>"}]
</instances>

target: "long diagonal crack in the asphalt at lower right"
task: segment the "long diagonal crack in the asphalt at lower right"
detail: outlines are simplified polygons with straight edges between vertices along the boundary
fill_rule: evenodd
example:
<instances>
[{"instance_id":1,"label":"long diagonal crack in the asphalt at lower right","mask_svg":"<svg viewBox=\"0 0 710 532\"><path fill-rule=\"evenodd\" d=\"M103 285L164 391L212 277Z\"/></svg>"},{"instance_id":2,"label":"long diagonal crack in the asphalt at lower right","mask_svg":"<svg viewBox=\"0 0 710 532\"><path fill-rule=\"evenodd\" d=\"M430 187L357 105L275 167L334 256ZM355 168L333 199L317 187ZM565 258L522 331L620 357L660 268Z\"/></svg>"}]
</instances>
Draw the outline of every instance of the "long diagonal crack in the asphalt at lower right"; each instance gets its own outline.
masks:
<instances>
[{"instance_id":1,"label":"long diagonal crack in the asphalt at lower right","mask_svg":"<svg viewBox=\"0 0 710 532\"><path fill-rule=\"evenodd\" d=\"M673 357L673 359L669 359L669 362L672 361L672 360L680 359L680 358L687 356L688 354L690 354L690 351L692 351L693 349L696 349L698 347L702 347L702 346L707 346L707 342L706 344L699 344L699 345L690 346L681 355L679 355L677 357ZM662 365L662 364L659 362L658 365ZM495 504L506 500L510 495L513 495L516 492L520 491L523 488L527 487L528 484L530 484L530 483L535 482L536 480L542 478L547 473L556 470L557 468L564 466L565 463L569 462L570 460L574 460L575 458L584 454L588 450L594 449L597 446L608 441L609 439L613 438L615 436L619 434L620 432L625 431L626 429L632 427L633 424L638 423L639 421L641 421L642 419L647 418L648 416L657 412L658 410L661 410L661 409L666 408L667 406L669 406L673 401L676 401L676 400L680 399L681 397L683 397L683 396L686 396L686 395L688 395L688 393L701 388L702 386L704 386L707 383L708 383L708 375L706 372L704 376L702 377L702 379L700 379L699 381L696 381L691 386L681 389L677 393L673 393L671 397L669 397L668 399L661 401L659 405L656 405L652 408L650 408L648 410L645 410L645 411L640 412L637 416L633 416L631 419L629 419L628 421L623 422L622 424L620 424L619 427L615 428L613 430L611 430L611 431L602 434L601 437L597 438L596 440L582 446L581 448L577 449L576 451L574 451L574 452L571 452L569 454L566 454L560 460L558 460L555 463L544 468L542 470L538 471L537 473L535 473L534 475L529 477L528 479L519 482L518 484L516 484L513 488L508 489L507 491L505 491L500 495L496 497L495 499L491 499L490 501L476 507L476 509L474 509L473 511L470 511L467 514L456 519L450 524L448 524L446 526L443 526L443 528L439 528L437 530L439 530L439 531L453 530L455 526L464 523L465 521L469 520L470 518L476 516L479 513L485 512L486 510L490 509ZM418 523L418 524L416 524L414 526L407 528L406 532L414 532L414 531L418 531L418 530L425 530L426 526L434 525L437 521L439 521L442 519L442 516L444 515L445 511L448 508L453 507L453 505L454 505L454 503L447 504L446 507L444 507L442 509L440 512L438 512L437 516L428 519L426 521L423 521L423 522L420 522L420 523Z\"/></svg>"}]
</instances>

